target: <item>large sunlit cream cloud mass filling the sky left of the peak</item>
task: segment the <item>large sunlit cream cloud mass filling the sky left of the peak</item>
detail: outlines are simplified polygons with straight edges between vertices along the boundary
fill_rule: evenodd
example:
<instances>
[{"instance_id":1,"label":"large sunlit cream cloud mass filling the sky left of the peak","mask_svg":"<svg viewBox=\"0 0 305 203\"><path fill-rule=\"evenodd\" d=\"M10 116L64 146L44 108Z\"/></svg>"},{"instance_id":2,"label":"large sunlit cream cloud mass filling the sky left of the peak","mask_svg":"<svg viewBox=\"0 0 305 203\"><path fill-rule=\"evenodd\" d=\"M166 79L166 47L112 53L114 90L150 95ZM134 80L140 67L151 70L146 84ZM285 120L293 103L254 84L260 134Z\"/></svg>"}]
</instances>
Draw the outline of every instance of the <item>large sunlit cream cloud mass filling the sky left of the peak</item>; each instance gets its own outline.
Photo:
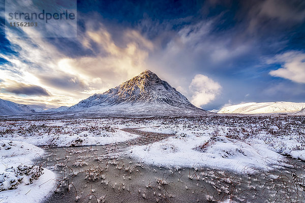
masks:
<instances>
[{"instance_id":1,"label":"large sunlit cream cloud mass filling the sky left of the peak","mask_svg":"<svg viewBox=\"0 0 305 203\"><path fill-rule=\"evenodd\" d=\"M140 32L131 28L121 29L121 43L117 44L103 23L85 22L84 31L79 32L78 38L69 39L71 43L68 45L65 40L58 39L14 38L14 33L8 30L6 38L18 54L0 52L0 57L8 61L0 64L1 79L10 87L6 93L0 92L0 97L9 99L9 93L13 93L17 94L13 100L22 100L22 93L35 99L35 95L48 94L55 99L46 100L48 106L71 106L147 69L145 60L154 44ZM58 46L64 42L74 48ZM85 53L67 53L71 50L85 50ZM48 91L16 87L14 83L27 84L28 81Z\"/></svg>"}]
</instances>

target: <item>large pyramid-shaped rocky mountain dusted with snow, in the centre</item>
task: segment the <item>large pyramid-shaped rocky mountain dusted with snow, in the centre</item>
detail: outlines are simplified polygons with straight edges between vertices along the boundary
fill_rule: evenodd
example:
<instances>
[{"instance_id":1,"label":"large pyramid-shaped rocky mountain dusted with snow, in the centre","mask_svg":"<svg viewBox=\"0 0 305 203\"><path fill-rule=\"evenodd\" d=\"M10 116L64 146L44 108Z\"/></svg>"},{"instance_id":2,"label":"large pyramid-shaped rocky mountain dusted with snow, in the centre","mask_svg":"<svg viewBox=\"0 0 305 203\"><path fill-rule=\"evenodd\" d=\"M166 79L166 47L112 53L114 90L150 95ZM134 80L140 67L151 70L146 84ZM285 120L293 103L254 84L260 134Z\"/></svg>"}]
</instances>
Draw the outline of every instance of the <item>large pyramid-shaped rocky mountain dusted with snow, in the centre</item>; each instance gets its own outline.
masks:
<instances>
[{"instance_id":1,"label":"large pyramid-shaped rocky mountain dusted with snow, in the centre","mask_svg":"<svg viewBox=\"0 0 305 203\"><path fill-rule=\"evenodd\" d=\"M66 111L158 115L207 113L149 70L102 94L81 100Z\"/></svg>"}]
</instances>

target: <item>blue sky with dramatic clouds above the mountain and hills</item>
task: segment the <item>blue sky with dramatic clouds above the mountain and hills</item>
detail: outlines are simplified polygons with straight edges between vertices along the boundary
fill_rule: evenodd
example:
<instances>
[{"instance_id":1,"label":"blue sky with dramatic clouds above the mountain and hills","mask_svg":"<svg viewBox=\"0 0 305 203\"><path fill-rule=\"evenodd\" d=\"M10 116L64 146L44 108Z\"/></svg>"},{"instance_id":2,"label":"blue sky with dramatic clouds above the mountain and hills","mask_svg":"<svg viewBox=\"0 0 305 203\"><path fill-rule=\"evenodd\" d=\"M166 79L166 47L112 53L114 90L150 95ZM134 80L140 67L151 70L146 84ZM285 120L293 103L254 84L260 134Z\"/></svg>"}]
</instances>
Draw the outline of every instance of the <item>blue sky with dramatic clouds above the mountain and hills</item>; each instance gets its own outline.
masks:
<instances>
[{"instance_id":1,"label":"blue sky with dramatic clouds above the mountain and hills","mask_svg":"<svg viewBox=\"0 0 305 203\"><path fill-rule=\"evenodd\" d=\"M2 99L72 106L150 70L205 110L305 102L302 0L77 1L77 37L53 38L7 30L0 2Z\"/></svg>"}]
</instances>

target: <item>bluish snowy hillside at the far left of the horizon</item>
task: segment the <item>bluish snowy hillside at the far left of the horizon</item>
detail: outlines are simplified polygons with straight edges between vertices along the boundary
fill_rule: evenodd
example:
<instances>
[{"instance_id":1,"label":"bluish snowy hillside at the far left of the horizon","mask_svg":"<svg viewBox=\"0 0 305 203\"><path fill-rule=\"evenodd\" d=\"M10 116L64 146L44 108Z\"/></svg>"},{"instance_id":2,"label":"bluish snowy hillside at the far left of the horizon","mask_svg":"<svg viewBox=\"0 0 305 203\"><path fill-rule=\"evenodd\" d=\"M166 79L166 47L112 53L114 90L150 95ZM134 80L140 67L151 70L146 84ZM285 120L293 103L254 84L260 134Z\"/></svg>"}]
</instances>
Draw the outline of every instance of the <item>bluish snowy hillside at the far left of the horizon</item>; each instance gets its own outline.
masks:
<instances>
[{"instance_id":1,"label":"bluish snowy hillside at the far left of the horizon","mask_svg":"<svg viewBox=\"0 0 305 203\"><path fill-rule=\"evenodd\" d=\"M13 103L12 101L0 98L0 115L10 116L26 113L35 113L35 110L29 106Z\"/></svg>"}]
</instances>

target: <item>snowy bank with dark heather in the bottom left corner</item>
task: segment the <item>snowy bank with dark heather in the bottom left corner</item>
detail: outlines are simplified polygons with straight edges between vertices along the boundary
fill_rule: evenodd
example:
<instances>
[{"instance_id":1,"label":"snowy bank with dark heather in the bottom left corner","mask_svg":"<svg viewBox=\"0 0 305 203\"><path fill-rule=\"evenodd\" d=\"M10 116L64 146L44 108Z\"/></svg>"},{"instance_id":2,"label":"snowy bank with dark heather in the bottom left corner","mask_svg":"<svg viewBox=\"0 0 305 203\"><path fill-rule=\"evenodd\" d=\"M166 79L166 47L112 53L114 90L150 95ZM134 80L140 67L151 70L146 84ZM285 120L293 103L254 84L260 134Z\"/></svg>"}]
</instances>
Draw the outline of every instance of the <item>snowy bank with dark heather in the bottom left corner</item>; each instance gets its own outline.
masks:
<instances>
[{"instance_id":1,"label":"snowy bank with dark heather in the bottom left corner","mask_svg":"<svg viewBox=\"0 0 305 203\"><path fill-rule=\"evenodd\" d=\"M0 202L40 202L55 186L56 175L34 165L44 150L18 141L0 141Z\"/></svg>"}]
</instances>

